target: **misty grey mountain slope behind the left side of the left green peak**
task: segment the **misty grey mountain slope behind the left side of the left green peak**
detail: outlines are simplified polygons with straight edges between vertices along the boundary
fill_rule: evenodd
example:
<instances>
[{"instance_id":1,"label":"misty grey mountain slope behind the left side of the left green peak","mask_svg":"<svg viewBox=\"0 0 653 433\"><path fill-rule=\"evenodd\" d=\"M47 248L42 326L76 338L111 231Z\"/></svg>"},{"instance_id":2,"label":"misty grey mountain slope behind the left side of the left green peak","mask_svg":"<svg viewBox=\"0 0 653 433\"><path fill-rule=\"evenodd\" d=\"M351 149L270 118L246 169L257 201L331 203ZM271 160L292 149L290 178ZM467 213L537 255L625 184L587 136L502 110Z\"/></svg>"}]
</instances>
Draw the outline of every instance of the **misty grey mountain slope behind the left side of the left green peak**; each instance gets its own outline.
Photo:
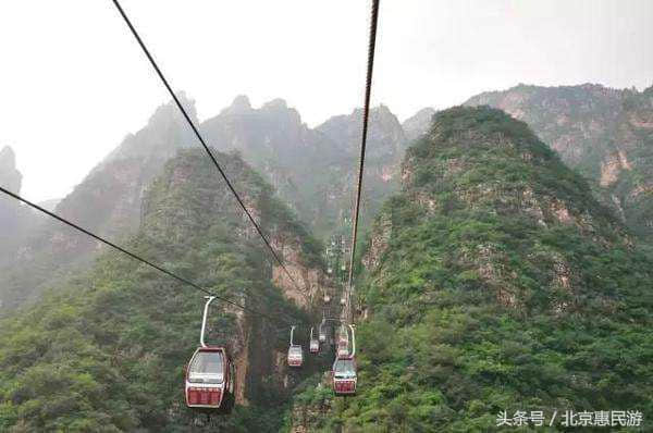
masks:
<instances>
[{"instance_id":1,"label":"misty grey mountain slope behind the left side of the left green peak","mask_svg":"<svg viewBox=\"0 0 653 433\"><path fill-rule=\"evenodd\" d=\"M180 98L195 119L194 102L183 94ZM101 236L128 237L140 224L146 185L177 149L193 140L178 109L173 103L159 107L143 129L127 135L57 203L54 212ZM0 316L34 301L46 287L85 269L103 248L53 220L32 227L32 232L0 272Z\"/></svg>"}]
</instances>

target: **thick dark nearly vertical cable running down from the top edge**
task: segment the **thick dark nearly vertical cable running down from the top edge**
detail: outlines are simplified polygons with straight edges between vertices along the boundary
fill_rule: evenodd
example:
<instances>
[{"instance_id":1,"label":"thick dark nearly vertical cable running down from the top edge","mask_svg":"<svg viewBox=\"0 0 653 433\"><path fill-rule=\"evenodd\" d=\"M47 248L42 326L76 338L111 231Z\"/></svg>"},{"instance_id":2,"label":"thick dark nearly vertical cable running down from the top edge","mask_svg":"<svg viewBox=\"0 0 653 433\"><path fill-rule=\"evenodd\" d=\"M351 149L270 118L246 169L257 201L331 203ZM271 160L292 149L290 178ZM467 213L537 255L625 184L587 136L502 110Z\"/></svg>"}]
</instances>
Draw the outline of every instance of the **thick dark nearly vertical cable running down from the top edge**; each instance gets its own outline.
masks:
<instances>
[{"instance_id":1,"label":"thick dark nearly vertical cable running down from the top edge","mask_svg":"<svg viewBox=\"0 0 653 433\"><path fill-rule=\"evenodd\" d=\"M360 194L362 189L362 173L365 168L365 150L367 146L368 123L370 114L370 95L372 92L372 72L374 70L374 50L377 48L377 24L379 22L379 2L372 0L370 38L368 45L367 79L365 86L365 106L362 109L362 138L360 143L360 160L358 164L358 185L356 187L356 205L354 208L354 224L352 226L352 249L349 256L349 276L347 281L348 319L352 318L352 282L354 279L354 258L356 256L356 239L358 236L358 214L360 213Z\"/></svg>"}]
</instances>

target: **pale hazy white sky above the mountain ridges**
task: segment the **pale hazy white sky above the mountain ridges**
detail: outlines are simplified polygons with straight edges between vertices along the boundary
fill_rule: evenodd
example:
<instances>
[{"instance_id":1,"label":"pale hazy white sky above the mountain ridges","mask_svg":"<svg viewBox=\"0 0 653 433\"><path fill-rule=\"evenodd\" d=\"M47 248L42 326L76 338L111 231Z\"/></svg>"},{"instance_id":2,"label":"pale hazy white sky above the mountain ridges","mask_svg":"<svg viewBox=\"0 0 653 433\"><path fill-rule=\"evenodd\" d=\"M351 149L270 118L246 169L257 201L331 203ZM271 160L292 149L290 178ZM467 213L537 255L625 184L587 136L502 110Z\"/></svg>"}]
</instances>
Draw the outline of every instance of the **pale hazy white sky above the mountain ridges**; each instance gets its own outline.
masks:
<instances>
[{"instance_id":1,"label":"pale hazy white sky above the mountain ridges","mask_svg":"<svg viewBox=\"0 0 653 433\"><path fill-rule=\"evenodd\" d=\"M316 125L362 100L369 1L123 0L201 120L239 94ZM401 120L518 83L653 84L651 0L382 0L372 101ZM0 2L0 147L61 197L168 101L111 0Z\"/></svg>"}]
</instances>

